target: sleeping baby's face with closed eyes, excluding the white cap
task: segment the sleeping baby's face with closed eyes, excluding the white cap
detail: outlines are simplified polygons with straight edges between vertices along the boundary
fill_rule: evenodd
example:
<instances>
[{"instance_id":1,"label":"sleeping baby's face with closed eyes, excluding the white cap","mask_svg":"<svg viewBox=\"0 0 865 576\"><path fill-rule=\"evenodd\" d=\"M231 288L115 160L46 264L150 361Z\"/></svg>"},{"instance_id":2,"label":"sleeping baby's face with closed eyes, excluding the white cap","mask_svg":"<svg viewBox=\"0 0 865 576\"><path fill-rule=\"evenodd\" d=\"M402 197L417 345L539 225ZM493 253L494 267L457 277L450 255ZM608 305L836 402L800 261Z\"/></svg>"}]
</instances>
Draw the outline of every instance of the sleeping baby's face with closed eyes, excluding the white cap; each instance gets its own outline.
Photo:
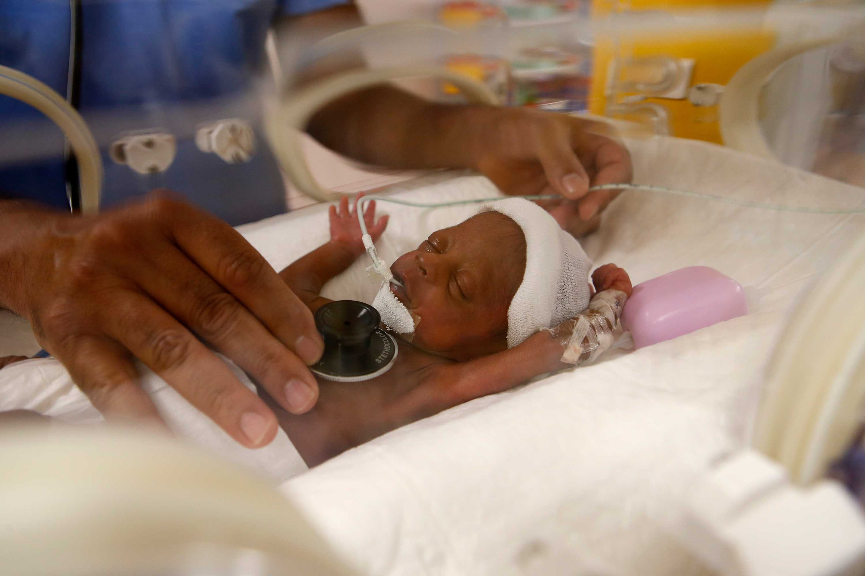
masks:
<instances>
[{"instance_id":1,"label":"sleeping baby's face with closed eyes, excluding the white cap","mask_svg":"<svg viewBox=\"0 0 865 576\"><path fill-rule=\"evenodd\" d=\"M465 360L507 348L508 307L522 282L525 240L516 223L484 212L433 232L391 270L396 297L420 316L413 345Z\"/></svg>"}]
</instances>

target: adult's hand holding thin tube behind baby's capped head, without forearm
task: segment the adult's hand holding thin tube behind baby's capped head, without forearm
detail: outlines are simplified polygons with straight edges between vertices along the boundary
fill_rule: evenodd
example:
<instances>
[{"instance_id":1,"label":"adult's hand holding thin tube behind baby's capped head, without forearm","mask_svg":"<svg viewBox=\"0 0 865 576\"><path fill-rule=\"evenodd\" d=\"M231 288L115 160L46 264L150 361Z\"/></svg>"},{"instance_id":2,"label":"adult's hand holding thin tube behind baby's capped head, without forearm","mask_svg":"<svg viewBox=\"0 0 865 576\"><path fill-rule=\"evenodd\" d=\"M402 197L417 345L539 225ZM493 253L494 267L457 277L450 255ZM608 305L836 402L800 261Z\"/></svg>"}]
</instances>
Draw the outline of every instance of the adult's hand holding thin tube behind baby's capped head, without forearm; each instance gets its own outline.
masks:
<instances>
[{"instance_id":1,"label":"adult's hand holding thin tube behind baby's capped head, without forearm","mask_svg":"<svg viewBox=\"0 0 865 576\"><path fill-rule=\"evenodd\" d=\"M574 236L593 231L618 194L588 188L630 182L633 176L631 155L604 123L502 108L477 130L475 167L507 194L561 195L539 204Z\"/></svg>"}]
</instances>

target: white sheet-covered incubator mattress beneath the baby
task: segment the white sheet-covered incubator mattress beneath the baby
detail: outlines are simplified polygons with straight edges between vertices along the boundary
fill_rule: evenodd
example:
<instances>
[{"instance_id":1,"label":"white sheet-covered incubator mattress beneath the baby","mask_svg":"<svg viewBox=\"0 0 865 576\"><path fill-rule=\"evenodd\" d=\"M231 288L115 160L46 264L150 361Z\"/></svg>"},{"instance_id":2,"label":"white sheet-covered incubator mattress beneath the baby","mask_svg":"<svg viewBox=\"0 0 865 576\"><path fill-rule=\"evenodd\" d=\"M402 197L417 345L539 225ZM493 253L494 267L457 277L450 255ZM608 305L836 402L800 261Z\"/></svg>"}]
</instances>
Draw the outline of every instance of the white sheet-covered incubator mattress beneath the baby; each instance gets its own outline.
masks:
<instances>
[{"instance_id":1,"label":"white sheet-covered incubator mattress beneath the baby","mask_svg":"<svg viewBox=\"0 0 865 576\"><path fill-rule=\"evenodd\" d=\"M640 183L776 204L865 206L862 189L702 142L630 146ZM496 193L483 178L441 174L406 188L400 194L425 201ZM379 253L393 262L476 207L380 210L392 217ZM326 222L326 207L314 206L240 230L281 269L327 239ZM798 295L863 222L624 193L583 242L596 264L617 263L634 283L710 266L746 287L752 313L452 408L280 490L361 573L702 573L671 535L682 495L709 462L745 441L761 370ZM366 265L356 263L324 295L371 301ZM9 392L0 372L0 399ZM16 402L62 412L61 396L38 386L23 396L19 389ZM90 414L73 406L71 419L74 409Z\"/></svg>"}]
</instances>

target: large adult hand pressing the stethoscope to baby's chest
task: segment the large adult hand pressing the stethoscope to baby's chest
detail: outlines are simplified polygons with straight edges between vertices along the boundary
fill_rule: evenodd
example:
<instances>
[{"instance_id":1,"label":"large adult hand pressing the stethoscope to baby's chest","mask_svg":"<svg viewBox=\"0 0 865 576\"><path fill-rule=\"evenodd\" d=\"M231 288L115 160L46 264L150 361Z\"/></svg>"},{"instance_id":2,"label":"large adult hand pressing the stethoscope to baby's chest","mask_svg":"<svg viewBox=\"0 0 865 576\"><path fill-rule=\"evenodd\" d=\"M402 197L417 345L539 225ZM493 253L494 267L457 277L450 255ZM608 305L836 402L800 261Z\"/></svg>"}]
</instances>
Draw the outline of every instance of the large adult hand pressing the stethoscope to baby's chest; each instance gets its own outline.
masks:
<instances>
[{"instance_id":1,"label":"large adult hand pressing the stethoscope to baby's chest","mask_svg":"<svg viewBox=\"0 0 865 576\"><path fill-rule=\"evenodd\" d=\"M272 411L208 345L286 410L317 401L306 364L324 343L312 315L231 226L169 193L93 217L19 210L10 230L39 224L16 246L20 269L0 299L106 417L158 421L138 358L241 444L268 444Z\"/></svg>"}]
</instances>

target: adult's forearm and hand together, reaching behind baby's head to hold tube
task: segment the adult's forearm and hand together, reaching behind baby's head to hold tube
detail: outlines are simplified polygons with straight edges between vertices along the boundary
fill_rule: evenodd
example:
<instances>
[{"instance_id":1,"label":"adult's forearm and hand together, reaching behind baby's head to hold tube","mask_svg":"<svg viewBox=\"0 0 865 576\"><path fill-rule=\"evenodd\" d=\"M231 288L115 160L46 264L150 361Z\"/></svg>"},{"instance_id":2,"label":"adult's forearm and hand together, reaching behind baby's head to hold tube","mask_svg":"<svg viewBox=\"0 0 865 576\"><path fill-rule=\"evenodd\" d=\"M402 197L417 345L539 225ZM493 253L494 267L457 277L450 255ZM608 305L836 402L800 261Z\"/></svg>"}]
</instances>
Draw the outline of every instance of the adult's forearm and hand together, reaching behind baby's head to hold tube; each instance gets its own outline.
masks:
<instances>
[{"instance_id":1,"label":"adult's forearm and hand together, reaching behind baby's head to hold tube","mask_svg":"<svg viewBox=\"0 0 865 576\"><path fill-rule=\"evenodd\" d=\"M356 160L391 168L474 168L504 193L559 194L541 204L565 230L593 230L631 155L607 123L483 105L433 104L393 86L353 92L311 118L310 134Z\"/></svg>"}]
</instances>

